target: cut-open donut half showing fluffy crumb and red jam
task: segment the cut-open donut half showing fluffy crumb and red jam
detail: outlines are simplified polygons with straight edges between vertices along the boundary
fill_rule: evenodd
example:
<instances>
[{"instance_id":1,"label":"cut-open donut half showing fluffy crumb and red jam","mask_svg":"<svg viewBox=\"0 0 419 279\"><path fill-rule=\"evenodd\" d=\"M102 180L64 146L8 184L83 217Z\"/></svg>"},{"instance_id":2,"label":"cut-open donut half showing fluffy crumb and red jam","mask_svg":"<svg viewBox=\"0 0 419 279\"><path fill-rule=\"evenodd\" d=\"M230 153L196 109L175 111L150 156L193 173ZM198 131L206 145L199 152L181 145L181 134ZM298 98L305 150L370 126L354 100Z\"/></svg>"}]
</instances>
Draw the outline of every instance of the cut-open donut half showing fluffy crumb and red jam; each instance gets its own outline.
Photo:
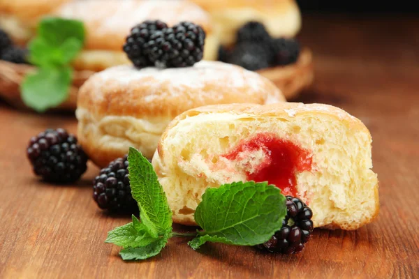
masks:
<instances>
[{"instance_id":1,"label":"cut-open donut half showing fluffy crumb and red jam","mask_svg":"<svg viewBox=\"0 0 419 279\"><path fill-rule=\"evenodd\" d=\"M330 105L208 105L169 124L152 164L175 223L196 225L209 187L267 181L308 204L314 227L351 230L378 214L371 151L364 124Z\"/></svg>"}]
</instances>

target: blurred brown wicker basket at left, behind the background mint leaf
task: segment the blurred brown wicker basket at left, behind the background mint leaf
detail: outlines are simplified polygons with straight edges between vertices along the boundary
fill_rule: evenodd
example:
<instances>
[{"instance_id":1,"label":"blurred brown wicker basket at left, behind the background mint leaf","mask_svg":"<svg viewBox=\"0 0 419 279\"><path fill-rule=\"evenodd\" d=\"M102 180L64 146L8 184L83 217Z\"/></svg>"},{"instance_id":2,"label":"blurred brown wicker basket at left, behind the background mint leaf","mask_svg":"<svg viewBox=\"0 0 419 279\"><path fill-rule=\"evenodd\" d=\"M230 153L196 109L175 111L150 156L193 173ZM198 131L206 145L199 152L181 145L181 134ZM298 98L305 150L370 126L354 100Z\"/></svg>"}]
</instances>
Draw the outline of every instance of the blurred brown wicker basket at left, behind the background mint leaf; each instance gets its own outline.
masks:
<instances>
[{"instance_id":1,"label":"blurred brown wicker basket at left, behind the background mint leaf","mask_svg":"<svg viewBox=\"0 0 419 279\"><path fill-rule=\"evenodd\" d=\"M14 107L28 110L20 98L20 83L25 75L34 70L34 66L0 61L0 97ZM89 70L75 71L67 100L54 110L74 111L77 107L78 89L93 73Z\"/></svg>"}]
</instances>

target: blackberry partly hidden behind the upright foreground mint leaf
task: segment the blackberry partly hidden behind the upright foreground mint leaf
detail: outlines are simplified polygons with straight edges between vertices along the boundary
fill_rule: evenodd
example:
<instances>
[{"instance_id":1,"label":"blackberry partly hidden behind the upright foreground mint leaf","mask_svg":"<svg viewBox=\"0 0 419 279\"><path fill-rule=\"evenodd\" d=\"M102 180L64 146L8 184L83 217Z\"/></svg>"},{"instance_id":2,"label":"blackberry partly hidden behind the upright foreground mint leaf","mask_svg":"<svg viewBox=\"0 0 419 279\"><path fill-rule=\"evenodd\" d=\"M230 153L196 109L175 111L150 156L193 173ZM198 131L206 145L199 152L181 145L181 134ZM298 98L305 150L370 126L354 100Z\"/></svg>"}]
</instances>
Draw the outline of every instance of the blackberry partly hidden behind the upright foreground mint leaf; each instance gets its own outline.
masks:
<instances>
[{"instance_id":1,"label":"blackberry partly hidden behind the upright foreground mint leaf","mask_svg":"<svg viewBox=\"0 0 419 279\"><path fill-rule=\"evenodd\" d=\"M101 209L109 211L138 211L137 202L131 196L128 179L127 156L113 160L94 179L93 199Z\"/></svg>"}]
</instances>

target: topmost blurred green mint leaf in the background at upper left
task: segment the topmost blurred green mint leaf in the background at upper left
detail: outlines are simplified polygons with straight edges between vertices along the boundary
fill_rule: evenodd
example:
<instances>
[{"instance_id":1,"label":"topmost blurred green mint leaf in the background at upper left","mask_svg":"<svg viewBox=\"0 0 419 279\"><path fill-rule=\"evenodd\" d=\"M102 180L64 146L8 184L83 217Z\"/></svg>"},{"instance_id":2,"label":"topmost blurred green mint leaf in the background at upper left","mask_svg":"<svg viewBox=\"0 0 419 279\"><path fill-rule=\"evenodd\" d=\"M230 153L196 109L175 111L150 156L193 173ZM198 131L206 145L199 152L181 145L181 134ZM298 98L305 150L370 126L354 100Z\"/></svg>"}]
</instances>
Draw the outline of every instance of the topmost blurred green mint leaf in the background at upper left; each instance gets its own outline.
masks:
<instances>
[{"instance_id":1,"label":"topmost blurred green mint leaf in the background at upper left","mask_svg":"<svg viewBox=\"0 0 419 279\"><path fill-rule=\"evenodd\" d=\"M68 38L84 42L83 22L60 17L45 17L38 25L37 35L52 47L60 47Z\"/></svg>"}]
</instances>

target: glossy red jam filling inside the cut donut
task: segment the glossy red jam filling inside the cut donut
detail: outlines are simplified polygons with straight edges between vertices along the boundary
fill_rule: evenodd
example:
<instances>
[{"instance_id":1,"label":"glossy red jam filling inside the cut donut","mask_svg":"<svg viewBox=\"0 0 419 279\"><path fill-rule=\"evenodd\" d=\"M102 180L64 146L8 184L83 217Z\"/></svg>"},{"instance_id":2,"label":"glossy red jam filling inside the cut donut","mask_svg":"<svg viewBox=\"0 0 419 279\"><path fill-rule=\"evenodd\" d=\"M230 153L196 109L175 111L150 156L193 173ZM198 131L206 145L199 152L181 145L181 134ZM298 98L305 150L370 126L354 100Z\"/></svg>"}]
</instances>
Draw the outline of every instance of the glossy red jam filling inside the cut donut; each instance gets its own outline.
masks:
<instances>
[{"instance_id":1,"label":"glossy red jam filling inside the cut donut","mask_svg":"<svg viewBox=\"0 0 419 279\"><path fill-rule=\"evenodd\" d=\"M281 189L284 195L296 197L295 174L311 170L311 153L293 142L281 140L270 133L258 134L250 140L240 142L235 149L224 155L228 160L240 160L243 154L262 150L265 153L260 165L247 172L247 180L268 181ZM244 153L242 153L244 152Z\"/></svg>"}]
</instances>

